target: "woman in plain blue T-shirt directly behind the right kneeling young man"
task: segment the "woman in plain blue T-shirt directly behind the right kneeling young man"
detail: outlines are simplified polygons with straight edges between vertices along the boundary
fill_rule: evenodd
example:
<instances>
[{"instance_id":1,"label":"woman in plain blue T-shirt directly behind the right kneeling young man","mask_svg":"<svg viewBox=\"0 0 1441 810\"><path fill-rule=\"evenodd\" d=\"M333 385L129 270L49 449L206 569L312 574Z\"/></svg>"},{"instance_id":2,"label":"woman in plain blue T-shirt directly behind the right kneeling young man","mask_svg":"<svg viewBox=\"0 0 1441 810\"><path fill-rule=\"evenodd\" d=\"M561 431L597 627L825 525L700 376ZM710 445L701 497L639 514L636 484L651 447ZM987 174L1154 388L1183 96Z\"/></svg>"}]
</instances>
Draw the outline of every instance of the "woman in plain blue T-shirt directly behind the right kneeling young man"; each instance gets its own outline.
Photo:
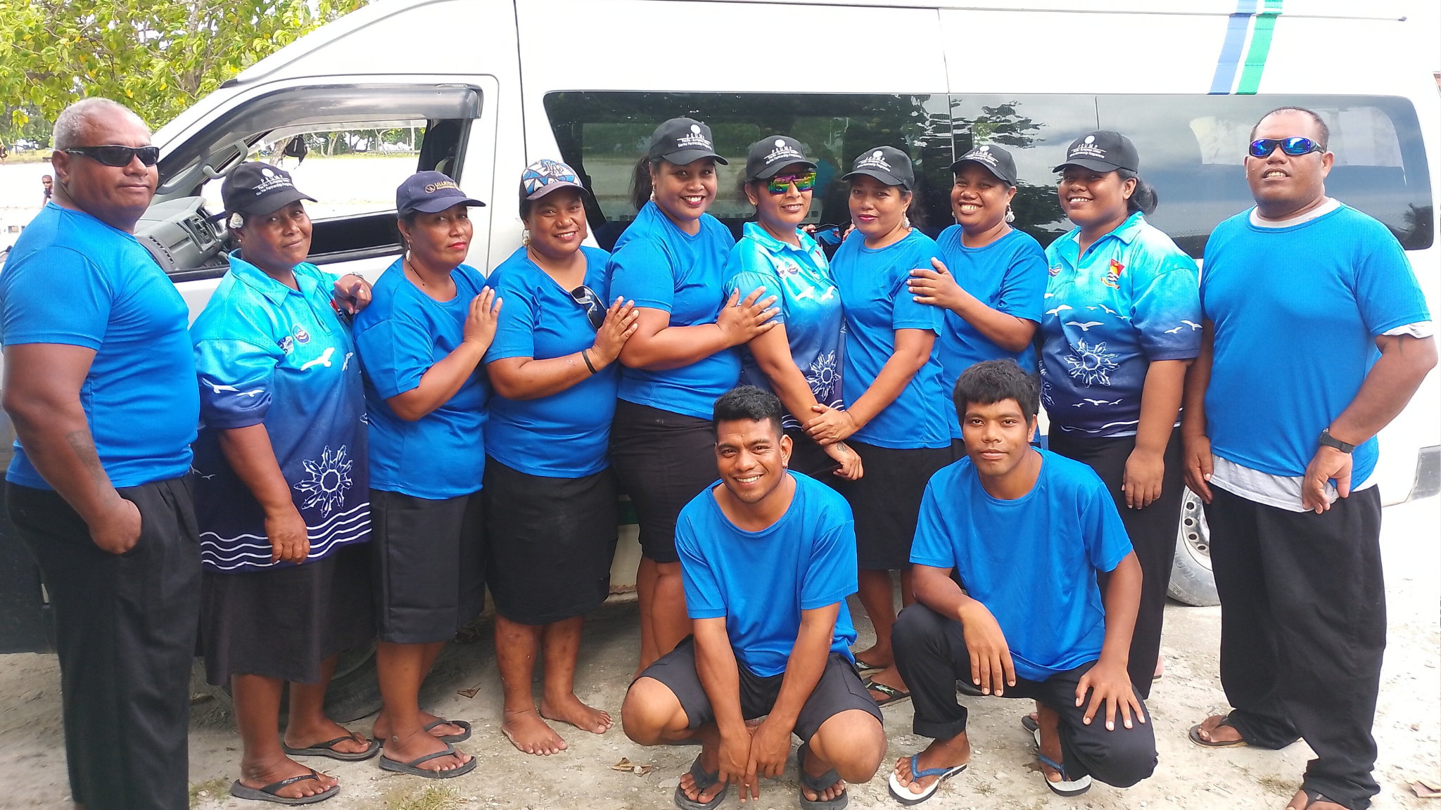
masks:
<instances>
[{"instance_id":1,"label":"woman in plain blue T-shirt directly behind the right kneeling young man","mask_svg":"<svg viewBox=\"0 0 1441 810\"><path fill-rule=\"evenodd\" d=\"M1014 215L1016 161L1004 148L978 146L951 164L951 225L937 238L941 259L911 271L911 294L945 310L941 331L941 401L951 430L951 458L965 457L951 393L961 372L983 360L1010 357L1036 373L1030 340L1046 294L1046 251ZM944 259L944 261L942 261Z\"/></svg>"}]
</instances>

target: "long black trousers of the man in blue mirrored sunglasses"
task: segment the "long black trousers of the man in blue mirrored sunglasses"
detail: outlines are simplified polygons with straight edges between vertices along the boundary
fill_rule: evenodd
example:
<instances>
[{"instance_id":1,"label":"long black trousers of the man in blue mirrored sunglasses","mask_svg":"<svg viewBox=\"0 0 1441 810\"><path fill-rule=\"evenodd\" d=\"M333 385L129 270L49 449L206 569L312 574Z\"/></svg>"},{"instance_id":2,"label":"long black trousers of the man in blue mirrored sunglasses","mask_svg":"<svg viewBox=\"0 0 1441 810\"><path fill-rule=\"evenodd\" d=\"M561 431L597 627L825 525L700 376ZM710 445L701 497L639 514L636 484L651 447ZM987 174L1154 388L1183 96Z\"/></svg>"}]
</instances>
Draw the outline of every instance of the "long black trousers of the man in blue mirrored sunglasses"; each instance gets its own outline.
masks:
<instances>
[{"instance_id":1,"label":"long black trousers of the man in blue mirrored sunglasses","mask_svg":"<svg viewBox=\"0 0 1441 810\"><path fill-rule=\"evenodd\" d=\"M1210 487L1228 722L1251 745L1316 751L1304 787L1363 810L1380 791L1370 726L1386 649L1380 493L1287 512Z\"/></svg>"}]
</instances>

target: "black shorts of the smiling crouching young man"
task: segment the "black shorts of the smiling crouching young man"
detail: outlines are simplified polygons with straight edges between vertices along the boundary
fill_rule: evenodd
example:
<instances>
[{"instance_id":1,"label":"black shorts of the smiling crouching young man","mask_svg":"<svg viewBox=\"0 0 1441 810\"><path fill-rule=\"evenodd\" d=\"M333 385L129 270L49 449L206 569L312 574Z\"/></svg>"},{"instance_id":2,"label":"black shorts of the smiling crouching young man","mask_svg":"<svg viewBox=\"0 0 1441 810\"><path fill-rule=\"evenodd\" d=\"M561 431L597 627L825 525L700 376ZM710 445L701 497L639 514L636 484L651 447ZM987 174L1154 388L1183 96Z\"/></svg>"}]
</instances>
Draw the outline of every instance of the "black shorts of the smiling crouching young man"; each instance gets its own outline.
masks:
<instances>
[{"instance_id":1,"label":"black shorts of the smiling crouching young man","mask_svg":"<svg viewBox=\"0 0 1441 810\"><path fill-rule=\"evenodd\" d=\"M785 675L761 677L745 669L739 660L735 667L741 676L741 716L749 721L771 713L771 709L775 708L775 699L781 695L781 682L785 680ZM670 689L680 700L680 708L686 711L686 718L690 721L689 728L700 728L716 719L715 709L710 708L710 698L706 695L705 686L700 685L700 676L696 675L695 636L686 636L684 641L646 667L640 676L659 680ZM870 712L876 722L885 724L880 708L876 706L870 692L860 682L860 675L856 673L856 664L840 653L831 653L820 682L816 683L816 689L811 690L800 715L795 716L795 735L808 741L821 724L850 709Z\"/></svg>"}]
</instances>

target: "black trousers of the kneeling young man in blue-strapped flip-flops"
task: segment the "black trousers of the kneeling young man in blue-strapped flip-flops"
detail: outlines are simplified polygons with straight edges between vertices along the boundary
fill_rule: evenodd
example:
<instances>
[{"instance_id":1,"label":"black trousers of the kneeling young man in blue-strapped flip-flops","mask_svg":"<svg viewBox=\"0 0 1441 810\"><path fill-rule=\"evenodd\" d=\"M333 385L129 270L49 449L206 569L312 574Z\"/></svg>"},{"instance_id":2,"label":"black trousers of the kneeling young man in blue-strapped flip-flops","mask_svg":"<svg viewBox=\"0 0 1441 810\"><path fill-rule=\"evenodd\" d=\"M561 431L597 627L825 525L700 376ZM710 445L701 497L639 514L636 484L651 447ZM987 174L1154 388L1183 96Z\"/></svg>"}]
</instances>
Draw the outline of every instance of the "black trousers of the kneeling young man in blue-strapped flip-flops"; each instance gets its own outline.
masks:
<instances>
[{"instance_id":1,"label":"black trousers of the kneeling young man in blue-strapped flip-flops","mask_svg":"<svg viewBox=\"0 0 1441 810\"><path fill-rule=\"evenodd\" d=\"M971 656L965 649L961 623L915 602L896 618L891 644L895 647L901 677L911 687L915 734L950 739L965 731L967 711L955 700L955 682L970 682L971 677ZM1099 713L1091 718L1091 725L1081 722L1085 706L1076 706L1076 683L1092 666L1095 662L1046 680L1027 680L1017 675L1016 686L1007 686L1003 698L1039 700L1061 715L1062 764L1068 778L1089 774L1110 785L1131 787L1156 770L1154 724L1144 709L1144 724L1133 719L1131 728L1125 728L1117 716L1115 729L1107 731ZM1104 712L1104 706L1099 711Z\"/></svg>"}]
</instances>

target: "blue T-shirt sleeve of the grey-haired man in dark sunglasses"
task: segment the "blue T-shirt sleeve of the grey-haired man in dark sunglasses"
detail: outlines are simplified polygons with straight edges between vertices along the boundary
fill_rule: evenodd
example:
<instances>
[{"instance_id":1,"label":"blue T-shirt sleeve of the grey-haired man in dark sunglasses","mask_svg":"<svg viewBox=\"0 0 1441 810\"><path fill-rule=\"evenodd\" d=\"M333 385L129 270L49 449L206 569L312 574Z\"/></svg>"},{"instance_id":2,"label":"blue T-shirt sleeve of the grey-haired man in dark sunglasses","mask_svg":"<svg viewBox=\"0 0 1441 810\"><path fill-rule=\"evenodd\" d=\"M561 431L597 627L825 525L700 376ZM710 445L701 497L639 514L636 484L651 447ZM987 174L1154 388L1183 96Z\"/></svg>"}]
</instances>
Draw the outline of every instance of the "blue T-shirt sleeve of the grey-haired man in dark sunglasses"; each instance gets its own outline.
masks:
<instances>
[{"instance_id":1,"label":"blue T-shirt sleeve of the grey-haired man in dark sunglasses","mask_svg":"<svg viewBox=\"0 0 1441 810\"><path fill-rule=\"evenodd\" d=\"M99 350L117 291L69 248L45 248L9 268L0 330L6 346L62 343Z\"/></svg>"}]
</instances>

